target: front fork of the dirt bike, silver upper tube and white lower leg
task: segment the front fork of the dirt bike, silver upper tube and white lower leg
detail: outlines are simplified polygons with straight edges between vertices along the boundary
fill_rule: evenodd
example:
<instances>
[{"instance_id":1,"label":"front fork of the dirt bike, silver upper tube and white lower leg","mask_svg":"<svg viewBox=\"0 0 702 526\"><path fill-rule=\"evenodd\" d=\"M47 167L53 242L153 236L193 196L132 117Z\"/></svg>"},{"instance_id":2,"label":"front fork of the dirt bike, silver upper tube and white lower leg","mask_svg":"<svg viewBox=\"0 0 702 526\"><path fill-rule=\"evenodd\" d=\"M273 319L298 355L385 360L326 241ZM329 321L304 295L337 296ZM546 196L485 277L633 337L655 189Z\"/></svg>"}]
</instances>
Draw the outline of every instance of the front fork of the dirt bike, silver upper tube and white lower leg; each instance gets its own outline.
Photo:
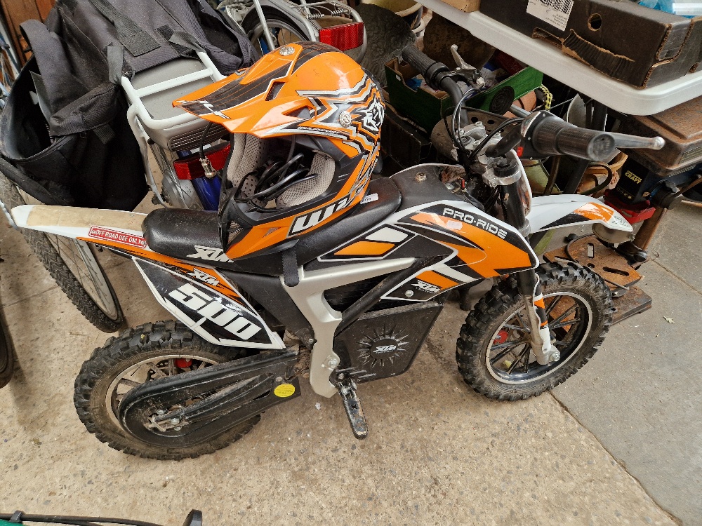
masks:
<instances>
[{"instance_id":1,"label":"front fork of the dirt bike, silver upper tube and white lower leg","mask_svg":"<svg viewBox=\"0 0 702 526\"><path fill-rule=\"evenodd\" d=\"M524 216L524 206L519 197L518 182L521 172L515 159L504 158L501 161L498 161L495 173L501 180L503 212L508 222L526 237L529 235L529 221ZM561 358L561 353L551 345L551 334L548 330L548 318L538 274L531 269L517 272L515 278L519 285L519 293L527 306L529 338L536 361L541 365L557 362Z\"/></svg>"}]
</instances>

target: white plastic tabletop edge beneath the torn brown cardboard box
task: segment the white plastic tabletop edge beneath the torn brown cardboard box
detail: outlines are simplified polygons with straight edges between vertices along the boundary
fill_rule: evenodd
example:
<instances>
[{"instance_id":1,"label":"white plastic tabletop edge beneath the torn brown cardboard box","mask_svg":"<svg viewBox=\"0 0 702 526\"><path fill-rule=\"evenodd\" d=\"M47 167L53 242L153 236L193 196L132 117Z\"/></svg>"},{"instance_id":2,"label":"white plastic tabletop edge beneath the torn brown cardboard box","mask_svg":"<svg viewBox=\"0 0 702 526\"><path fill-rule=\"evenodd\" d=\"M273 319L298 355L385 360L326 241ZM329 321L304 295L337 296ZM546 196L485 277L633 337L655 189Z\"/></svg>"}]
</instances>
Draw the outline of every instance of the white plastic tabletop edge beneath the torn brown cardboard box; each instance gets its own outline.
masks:
<instances>
[{"instance_id":1,"label":"white plastic tabletop edge beneath the torn brown cardboard box","mask_svg":"<svg viewBox=\"0 0 702 526\"><path fill-rule=\"evenodd\" d=\"M555 46L532 39L482 13L464 13L440 0L417 1L468 29L474 36L491 46L618 112L653 115L702 96L702 72L687 74L681 79L652 88L637 89L610 79L588 65L564 55Z\"/></svg>"}]
</instances>

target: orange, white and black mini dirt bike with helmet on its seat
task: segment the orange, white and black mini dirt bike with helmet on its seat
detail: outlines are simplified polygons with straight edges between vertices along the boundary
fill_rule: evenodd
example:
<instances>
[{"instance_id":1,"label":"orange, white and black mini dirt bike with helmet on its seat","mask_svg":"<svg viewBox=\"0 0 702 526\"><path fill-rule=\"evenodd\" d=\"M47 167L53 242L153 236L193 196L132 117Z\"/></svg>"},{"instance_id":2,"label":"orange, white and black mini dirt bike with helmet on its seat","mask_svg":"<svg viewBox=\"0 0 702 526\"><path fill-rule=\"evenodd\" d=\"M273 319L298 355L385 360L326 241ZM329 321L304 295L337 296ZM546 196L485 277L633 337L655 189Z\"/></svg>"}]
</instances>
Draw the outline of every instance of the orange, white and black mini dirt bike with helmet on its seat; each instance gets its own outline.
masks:
<instances>
[{"instance_id":1,"label":"orange, white and black mini dirt bike with helmet on its seat","mask_svg":"<svg viewBox=\"0 0 702 526\"><path fill-rule=\"evenodd\" d=\"M474 87L460 86L475 83L472 73L415 48L404 58L461 112ZM298 396L307 376L315 393L340 394L364 438L359 385L408 370L446 292L485 278L496 283L456 348L479 393L536 396L602 343L613 311L607 285L577 264L539 266L527 238L569 224L596 224L605 237L631 227L586 196L532 199L512 148L602 159L621 142L658 140L536 112L504 136L472 130L463 166L424 164L371 182L380 91L346 55L311 42L279 48L174 105L232 133L218 212L12 210L21 227L133 259L177 320L110 338L81 368L79 417L111 447L157 459L213 452Z\"/></svg>"}]
</instances>

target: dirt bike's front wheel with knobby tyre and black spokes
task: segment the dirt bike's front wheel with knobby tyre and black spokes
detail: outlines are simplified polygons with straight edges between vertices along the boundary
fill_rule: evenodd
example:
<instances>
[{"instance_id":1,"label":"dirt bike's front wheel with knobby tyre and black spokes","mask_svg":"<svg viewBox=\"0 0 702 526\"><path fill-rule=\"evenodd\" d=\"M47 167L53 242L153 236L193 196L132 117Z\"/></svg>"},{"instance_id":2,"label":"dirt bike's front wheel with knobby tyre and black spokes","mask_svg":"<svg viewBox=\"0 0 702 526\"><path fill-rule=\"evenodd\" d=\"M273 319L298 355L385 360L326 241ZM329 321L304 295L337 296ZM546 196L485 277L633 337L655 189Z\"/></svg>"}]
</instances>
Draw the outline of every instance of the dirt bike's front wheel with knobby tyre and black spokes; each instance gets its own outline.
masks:
<instances>
[{"instance_id":1,"label":"dirt bike's front wheel with knobby tyre and black spokes","mask_svg":"<svg viewBox=\"0 0 702 526\"><path fill-rule=\"evenodd\" d=\"M517 282L499 283L468 314L456 342L459 372L488 398L526 400L553 389L592 358L609 331L614 304L600 276L574 263L544 264L536 272L561 358L548 365L536 361Z\"/></svg>"}]
</instances>

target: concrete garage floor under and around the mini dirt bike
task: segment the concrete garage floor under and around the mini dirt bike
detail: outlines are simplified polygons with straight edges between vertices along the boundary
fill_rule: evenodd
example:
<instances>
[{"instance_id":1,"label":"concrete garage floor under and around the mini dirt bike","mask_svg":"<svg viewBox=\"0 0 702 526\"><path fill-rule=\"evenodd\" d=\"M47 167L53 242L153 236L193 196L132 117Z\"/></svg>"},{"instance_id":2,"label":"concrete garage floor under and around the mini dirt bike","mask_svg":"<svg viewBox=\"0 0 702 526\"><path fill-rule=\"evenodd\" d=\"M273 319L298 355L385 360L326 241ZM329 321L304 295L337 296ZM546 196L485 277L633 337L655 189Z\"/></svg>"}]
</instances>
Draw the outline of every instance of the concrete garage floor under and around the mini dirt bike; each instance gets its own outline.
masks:
<instances>
[{"instance_id":1,"label":"concrete garage floor under and around the mini dirt bike","mask_svg":"<svg viewBox=\"0 0 702 526\"><path fill-rule=\"evenodd\" d=\"M667 224L681 214L687 220L689 210L675 210ZM122 454L84 429L72 386L107 335L3 224L1 297L20 370L0 390L0 511L164 525L180 525L190 508L204 511L207 525L677 523L651 494L686 524L700 524L697 502L679 504L700 494L700 382L691 353L701 287L673 245L684 236L668 235L661 259L644 267L654 309L614 328L590 364L557 389L575 417L550 393L500 403L470 391L453 359L464 313L451 303L406 375L360 389L371 429L363 442L338 399L303 386L303 396L267 411L238 443L174 462ZM698 246L689 245L690 257ZM677 272L675 261L687 265L687 282L661 266ZM110 256L106 266L130 325L168 318L131 262ZM669 487L675 473L679 484Z\"/></svg>"}]
</instances>

